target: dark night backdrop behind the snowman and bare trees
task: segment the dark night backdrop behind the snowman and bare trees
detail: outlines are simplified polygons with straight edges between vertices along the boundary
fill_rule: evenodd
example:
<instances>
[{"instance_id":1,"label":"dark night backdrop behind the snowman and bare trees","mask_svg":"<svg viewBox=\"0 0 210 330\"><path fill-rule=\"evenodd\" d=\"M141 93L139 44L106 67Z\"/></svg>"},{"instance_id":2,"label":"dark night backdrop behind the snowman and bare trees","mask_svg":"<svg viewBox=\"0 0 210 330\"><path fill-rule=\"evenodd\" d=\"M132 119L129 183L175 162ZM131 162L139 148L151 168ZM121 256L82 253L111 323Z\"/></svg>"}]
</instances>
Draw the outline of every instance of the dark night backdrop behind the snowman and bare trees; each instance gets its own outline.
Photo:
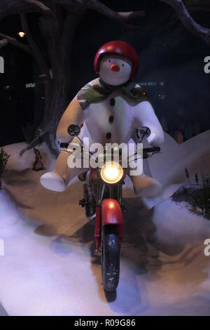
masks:
<instances>
[{"instance_id":1,"label":"dark night backdrop behind the snowman and bare trees","mask_svg":"<svg viewBox=\"0 0 210 330\"><path fill-rule=\"evenodd\" d=\"M97 49L111 40L125 40L139 54L139 81L151 96L163 128L175 139L179 131L184 140L210 128L210 74L204 73L204 58L210 49L190 34L181 23L173 24L174 11L159 1L102 1L116 11L146 10L145 18L135 23L139 30L127 30L120 23L94 11L87 11L73 41L71 58L71 98L81 86L94 79L93 60ZM37 14L29 14L31 34L48 57L37 25ZM210 27L209 14L194 13L193 18ZM0 22L0 32L20 39L18 15ZM16 48L0 49L5 73L0 74L0 145L25 140L22 126L38 125L43 113L43 79L30 55ZM34 88L26 84L36 82ZM40 82L40 84L39 84Z\"/></svg>"}]
</instances>

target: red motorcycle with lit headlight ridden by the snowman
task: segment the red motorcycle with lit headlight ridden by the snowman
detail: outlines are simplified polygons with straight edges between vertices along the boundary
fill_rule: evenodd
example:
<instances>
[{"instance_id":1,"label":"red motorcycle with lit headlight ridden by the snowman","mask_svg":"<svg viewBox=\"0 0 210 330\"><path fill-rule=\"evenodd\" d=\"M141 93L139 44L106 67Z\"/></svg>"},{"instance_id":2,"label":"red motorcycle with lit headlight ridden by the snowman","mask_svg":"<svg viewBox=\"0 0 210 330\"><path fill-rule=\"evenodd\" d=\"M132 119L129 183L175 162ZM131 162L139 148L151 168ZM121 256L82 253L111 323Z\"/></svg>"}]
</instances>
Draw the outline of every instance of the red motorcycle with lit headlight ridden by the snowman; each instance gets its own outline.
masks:
<instances>
[{"instance_id":1,"label":"red motorcycle with lit headlight ridden by the snowman","mask_svg":"<svg viewBox=\"0 0 210 330\"><path fill-rule=\"evenodd\" d=\"M141 128L140 143L145 136L150 134L149 128ZM78 125L71 125L68 128L71 136L80 133ZM83 141L80 140L83 148ZM68 151L69 144L61 143L60 148ZM104 154L106 152L104 147ZM119 150L118 150L119 152ZM144 148L143 158L151 157L160 152L160 147ZM123 206L123 184L127 175L127 168L123 169L122 158L119 162L106 162L97 168L90 167L90 175L86 173L79 176L83 184L83 199L79 201L80 206L85 207L85 213L89 220L95 219L94 239L96 251L102 253L102 280L106 291L115 291L120 277L120 249L123 239L123 213L126 211ZM133 154L136 156L137 152ZM92 154L90 153L90 157ZM106 159L106 157L104 157Z\"/></svg>"}]
</instances>

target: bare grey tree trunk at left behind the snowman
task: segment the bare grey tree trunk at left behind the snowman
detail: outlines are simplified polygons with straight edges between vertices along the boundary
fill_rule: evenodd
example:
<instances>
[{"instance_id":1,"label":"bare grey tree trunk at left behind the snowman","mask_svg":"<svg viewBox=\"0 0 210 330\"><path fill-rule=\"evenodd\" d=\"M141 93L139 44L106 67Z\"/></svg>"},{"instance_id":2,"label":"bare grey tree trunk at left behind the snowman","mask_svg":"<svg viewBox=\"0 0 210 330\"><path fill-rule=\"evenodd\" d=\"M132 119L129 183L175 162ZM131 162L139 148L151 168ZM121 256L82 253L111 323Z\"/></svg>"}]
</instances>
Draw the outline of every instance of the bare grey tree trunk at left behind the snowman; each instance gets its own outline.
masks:
<instances>
[{"instance_id":1,"label":"bare grey tree trunk at left behind the snowman","mask_svg":"<svg viewBox=\"0 0 210 330\"><path fill-rule=\"evenodd\" d=\"M45 86L45 110L40 131L55 156L58 153L55 144L57 125L70 102L73 35L83 13L76 7L55 7L52 16L40 18L41 30L48 41L52 70L52 81Z\"/></svg>"}]
</instances>

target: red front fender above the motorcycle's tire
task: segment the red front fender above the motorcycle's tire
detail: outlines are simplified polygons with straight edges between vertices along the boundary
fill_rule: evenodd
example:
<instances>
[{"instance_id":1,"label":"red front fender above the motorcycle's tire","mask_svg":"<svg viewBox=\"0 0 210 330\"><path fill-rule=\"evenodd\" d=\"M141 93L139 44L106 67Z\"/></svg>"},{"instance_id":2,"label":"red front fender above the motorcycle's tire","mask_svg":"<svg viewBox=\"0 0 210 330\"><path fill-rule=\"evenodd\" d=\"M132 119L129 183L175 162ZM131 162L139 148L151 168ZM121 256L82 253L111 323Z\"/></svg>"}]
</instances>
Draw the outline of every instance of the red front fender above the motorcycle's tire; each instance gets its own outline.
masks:
<instances>
[{"instance_id":1,"label":"red front fender above the motorcycle's tire","mask_svg":"<svg viewBox=\"0 0 210 330\"><path fill-rule=\"evenodd\" d=\"M102 201L102 225L123 225L123 214L116 199Z\"/></svg>"}]
</instances>

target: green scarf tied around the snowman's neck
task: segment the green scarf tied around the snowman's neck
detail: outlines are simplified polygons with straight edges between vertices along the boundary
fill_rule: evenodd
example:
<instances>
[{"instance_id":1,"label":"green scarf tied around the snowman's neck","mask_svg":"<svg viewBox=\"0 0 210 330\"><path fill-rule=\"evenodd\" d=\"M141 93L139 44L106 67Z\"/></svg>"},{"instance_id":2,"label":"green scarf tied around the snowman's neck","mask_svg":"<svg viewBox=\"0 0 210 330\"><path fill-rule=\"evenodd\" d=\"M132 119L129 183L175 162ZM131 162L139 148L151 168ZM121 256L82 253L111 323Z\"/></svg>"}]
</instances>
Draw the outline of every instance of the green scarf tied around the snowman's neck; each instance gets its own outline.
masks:
<instances>
[{"instance_id":1,"label":"green scarf tied around the snowman's neck","mask_svg":"<svg viewBox=\"0 0 210 330\"><path fill-rule=\"evenodd\" d=\"M108 98L108 96L111 95L113 91L122 91L123 95L132 100L135 105L143 101L150 102L148 95L140 86L132 89L127 87L128 84L130 84L130 80L120 86L108 85L104 83L102 79L99 79L99 81L101 86L91 86L90 84L87 84L78 92L77 99L83 100L83 102L80 102L80 106L83 108L83 110L85 110L85 108L92 103L98 103L106 100L106 98Z\"/></svg>"}]
</instances>

